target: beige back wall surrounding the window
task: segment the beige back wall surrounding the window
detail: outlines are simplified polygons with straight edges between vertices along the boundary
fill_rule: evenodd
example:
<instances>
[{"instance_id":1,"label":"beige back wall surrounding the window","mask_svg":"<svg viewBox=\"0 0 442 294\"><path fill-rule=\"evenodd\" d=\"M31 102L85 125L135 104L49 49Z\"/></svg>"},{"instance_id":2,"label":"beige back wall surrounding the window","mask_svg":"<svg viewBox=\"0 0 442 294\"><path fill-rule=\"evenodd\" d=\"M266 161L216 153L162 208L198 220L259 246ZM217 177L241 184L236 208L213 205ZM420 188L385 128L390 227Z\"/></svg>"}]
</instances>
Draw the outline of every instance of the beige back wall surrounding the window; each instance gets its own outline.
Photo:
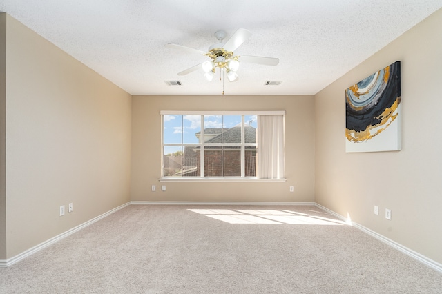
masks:
<instances>
[{"instance_id":1,"label":"beige back wall surrounding the window","mask_svg":"<svg viewBox=\"0 0 442 294\"><path fill-rule=\"evenodd\" d=\"M287 182L158 182L160 110L285 110ZM312 96L136 96L132 101L131 200L200 202L313 202L314 99ZM158 186L166 185L166 192ZM289 192L294 186L294 193Z\"/></svg>"}]
</instances>

